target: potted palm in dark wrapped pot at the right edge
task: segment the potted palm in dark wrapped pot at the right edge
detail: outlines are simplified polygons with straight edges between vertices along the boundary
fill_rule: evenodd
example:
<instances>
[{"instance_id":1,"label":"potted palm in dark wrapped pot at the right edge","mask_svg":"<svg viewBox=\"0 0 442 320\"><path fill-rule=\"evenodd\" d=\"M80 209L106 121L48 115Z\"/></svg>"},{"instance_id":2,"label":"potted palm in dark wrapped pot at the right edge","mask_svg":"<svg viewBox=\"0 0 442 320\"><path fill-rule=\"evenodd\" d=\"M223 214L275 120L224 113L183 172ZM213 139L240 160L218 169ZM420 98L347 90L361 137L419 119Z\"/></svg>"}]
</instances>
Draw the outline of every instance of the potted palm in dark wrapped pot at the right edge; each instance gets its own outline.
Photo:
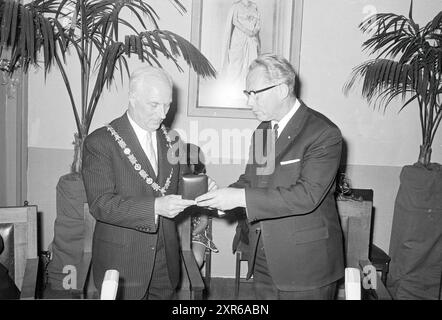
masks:
<instances>
[{"instance_id":1,"label":"potted palm in dark wrapped pot at the right edge","mask_svg":"<svg viewBox=\"0 0 442 320\"><path fill-rule=\"evenodd\" d=\"M417 106L422 132L418 160L402 168L390 240L388 288L396 299L437 299L442 272L442 167L431 150L442 119L442 12L424 26L409 16L381 13L360 24L375 55L354 68L348 93L362 79L362 96L384 110L402 98Z\"/></svg>"}]
</instances>

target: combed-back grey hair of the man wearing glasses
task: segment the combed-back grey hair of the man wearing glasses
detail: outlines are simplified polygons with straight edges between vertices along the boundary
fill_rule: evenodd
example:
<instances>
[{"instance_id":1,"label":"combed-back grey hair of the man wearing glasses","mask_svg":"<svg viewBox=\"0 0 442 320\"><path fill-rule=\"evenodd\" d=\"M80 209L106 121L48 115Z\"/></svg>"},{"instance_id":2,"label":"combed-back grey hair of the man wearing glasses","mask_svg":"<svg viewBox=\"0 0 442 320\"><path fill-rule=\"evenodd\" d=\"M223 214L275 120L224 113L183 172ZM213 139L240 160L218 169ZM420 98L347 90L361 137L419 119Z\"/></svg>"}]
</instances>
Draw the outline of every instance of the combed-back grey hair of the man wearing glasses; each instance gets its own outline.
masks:
<instances>
[{"instance_id":1,"label":"combed-back grey hair of the man wearing glasses","mask_svg":"<svg viewBox=\"0 0 442 320\"><path fill-rule=\"evenodd\" d=\"M267 80L275 82L275 84L287 84L289 93L294 95L296 72L287 59L276 54L265 53L252 61L249 72L259 67L264 69Z\"/></svg>"}]
</instances>

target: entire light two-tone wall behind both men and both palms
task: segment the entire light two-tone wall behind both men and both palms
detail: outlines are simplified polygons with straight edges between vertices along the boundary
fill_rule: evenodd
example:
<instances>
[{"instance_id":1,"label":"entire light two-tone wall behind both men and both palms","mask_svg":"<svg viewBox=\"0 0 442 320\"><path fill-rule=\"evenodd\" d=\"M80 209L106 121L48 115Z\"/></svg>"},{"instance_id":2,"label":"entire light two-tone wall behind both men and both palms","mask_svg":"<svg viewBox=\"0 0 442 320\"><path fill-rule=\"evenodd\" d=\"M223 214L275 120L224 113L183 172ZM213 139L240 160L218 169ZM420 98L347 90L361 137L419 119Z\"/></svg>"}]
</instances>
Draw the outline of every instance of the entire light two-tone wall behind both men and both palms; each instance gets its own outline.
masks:
<instances>
[{"instance_id":1,"label":"entire light two-tone wall behind both men and both palms","mask_svg":"<svg viewBox=\"0 0 442 320\"><path fill-rule=\"evenodd\" d=\"M182 1L189 13L181 16L168 1L155 0L152 5L162 18L160 26L189 39L191 0ZM361 53L364 36L357 25L370 10L408 14L408 1L403 0L308 0L304 3L301 48L302 99L332 119L342 130L348 148L347 173L352 186L374 189L375 223L373 241L388 251L394 198L399 186L401 166L416 161L419 150L419 124L416 108L410 106L397 114L398 104L385 114L375 112L354 91L349 97L342 93L353 66L366 56ZM419 22L439 11L438 0L415 1ZM368 10L368 11L367 11ZM136 63L134 63L136 65ZM184 63L182 62L182 66ZM174 127L188 133L214 129L253 129L255 120L188 117L188 69L179 73L170 63L165 67L172 74L177 89L178 112ZM76 67L69 73L78 75ZM54 70L55 71L55 70ZM29 168L28 199L39 205L43 216L43 246L53 237L55 220L55 186L58 177L69 170L72 159L72 111L57 72L44 83L41 72L29 77ZM78 82L77 82L78 83ZM77 86L78 89L78 86ZM92 130L109 122L125 110L126 87L105 93L97 109ZM248 147L244 139L243 148ZM205 144L207 141L199 141ZM433 161L441 162L442 140L434 144ZM234 164L222 159L221 164L209 164L209 174L223 187L234 181L244 168L245 159ZM222 165L223 160L230 164ZM235 225L226 220L214 221L214 240L220 253L213 255L213 275L232 277L234 256L231 241Z\"/></svg>"}]
</instances>

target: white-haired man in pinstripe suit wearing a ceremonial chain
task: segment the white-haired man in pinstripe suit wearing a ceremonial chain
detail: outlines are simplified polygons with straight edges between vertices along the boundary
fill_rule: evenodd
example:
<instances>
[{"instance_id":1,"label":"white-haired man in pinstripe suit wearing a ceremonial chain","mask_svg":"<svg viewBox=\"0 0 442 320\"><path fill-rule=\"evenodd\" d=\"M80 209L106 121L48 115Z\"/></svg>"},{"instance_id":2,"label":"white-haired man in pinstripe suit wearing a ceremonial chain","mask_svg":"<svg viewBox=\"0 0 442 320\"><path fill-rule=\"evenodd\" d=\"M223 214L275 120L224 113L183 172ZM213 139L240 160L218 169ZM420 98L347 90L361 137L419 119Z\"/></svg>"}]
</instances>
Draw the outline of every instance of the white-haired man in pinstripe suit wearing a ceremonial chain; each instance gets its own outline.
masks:
<instances>
[{"instance_id":1,"label":"white-haired man in pinstripe suit wearing a ceremonial chain","mask_svg":"<svg viewBox=\"0 0 442 320\"><path fill-rule=\"evenodd\" d=\"M173 299L179 281L179 242L173 218L194 201L178 194L184 165L162 121L172 80L162 69L135 71L123 116L84 143L83 179L97 220L92 270L97 288L105 271L120 274L117 299ZM213 185L211 185L213 187Z\"/></svg>"}]
</instances>

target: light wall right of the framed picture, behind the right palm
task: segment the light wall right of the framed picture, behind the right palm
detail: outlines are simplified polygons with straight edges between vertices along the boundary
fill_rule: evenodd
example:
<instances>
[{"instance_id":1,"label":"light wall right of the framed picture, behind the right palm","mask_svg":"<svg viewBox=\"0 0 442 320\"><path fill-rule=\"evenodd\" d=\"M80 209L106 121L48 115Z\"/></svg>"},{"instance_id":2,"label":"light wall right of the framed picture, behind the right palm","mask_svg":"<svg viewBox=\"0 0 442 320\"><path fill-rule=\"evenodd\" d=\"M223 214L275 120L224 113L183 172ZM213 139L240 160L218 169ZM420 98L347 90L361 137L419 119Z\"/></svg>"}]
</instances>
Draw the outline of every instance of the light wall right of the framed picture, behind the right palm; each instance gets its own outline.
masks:
<instances>
[{"instance_id":1,"label":"light wall right of the framed picture, behind the right palm","mask_svg":"<svg viewBox=\"0 0 442 320\"><path fill-rule=\"evenodd\" d=\"M342 93L352 68L367 60L361 44L367 39L357 28L370 13L408 15L409 1L304 1L301 47L302 99L326 114L341 129L348 150L352 186L372 188L376 208L373 242L388 252L400 168L417 161L420 145L418 107L400 114L395 101L385 113L373 110L360 90ZM423 25L442 9L440 1L414 1L414 18ZM433 145L434 162L442 161L442 137Z\"/></svg>"}]
</instances>

